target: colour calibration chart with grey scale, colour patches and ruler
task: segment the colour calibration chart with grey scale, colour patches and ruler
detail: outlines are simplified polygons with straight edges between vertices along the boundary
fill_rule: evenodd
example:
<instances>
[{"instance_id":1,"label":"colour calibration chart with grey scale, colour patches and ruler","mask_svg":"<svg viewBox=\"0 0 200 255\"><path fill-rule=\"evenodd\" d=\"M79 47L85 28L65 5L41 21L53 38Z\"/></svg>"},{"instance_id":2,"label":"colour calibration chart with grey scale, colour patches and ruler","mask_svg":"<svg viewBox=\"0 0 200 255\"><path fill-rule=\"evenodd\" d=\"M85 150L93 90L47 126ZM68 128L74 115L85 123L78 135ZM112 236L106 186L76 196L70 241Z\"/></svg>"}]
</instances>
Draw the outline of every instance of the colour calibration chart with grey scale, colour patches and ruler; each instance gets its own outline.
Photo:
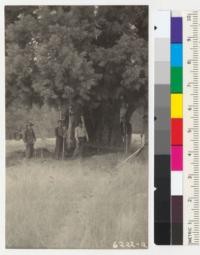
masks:
<instances>
[{"instance_id":1,"label":"colour calibration chart with grey scale, colour patches and ruler","mask_svg":"<svg viewBox=\"0 0 200 255\"><path fill-rule=\"evenodd\" d=\"M199 245L200 11L154 24L154 241Z\"/></svg>"}]
</instances>

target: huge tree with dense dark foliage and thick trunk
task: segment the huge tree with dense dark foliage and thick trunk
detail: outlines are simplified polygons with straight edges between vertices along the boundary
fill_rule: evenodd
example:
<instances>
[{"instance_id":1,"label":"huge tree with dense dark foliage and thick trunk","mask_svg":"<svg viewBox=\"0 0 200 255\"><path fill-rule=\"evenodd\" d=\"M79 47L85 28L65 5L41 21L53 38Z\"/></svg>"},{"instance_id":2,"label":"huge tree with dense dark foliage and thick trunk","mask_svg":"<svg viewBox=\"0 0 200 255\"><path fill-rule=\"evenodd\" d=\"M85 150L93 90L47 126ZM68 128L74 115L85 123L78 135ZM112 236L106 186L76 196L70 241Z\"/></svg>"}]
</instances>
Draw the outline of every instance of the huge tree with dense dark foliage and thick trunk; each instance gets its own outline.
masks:
<instances>
[{"instance_id":1,"label":"huge tree with dense dark foliage and thick trunk","mask_svg":"<svg viewBox=\"0 0 200 255\"><path fill-rule=\"evenodd\" d=\"M72 106L116 143L120 99L130 115L147 97L147 21L144 6L6 7L7 106Z\"/></svg>"}]
</instances>

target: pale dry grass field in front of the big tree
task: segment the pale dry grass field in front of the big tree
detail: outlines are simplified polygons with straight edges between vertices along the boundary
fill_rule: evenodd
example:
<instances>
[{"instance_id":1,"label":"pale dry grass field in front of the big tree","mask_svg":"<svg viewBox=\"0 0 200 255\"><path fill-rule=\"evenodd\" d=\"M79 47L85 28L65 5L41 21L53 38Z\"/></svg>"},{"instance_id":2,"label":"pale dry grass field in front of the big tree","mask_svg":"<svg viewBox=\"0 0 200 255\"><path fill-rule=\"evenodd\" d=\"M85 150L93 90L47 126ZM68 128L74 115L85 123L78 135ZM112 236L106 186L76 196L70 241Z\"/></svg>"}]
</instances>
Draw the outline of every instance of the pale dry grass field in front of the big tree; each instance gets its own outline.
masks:
<instances>
[{"instance_id":1,"label":"pale dry grass field in front of the big tree","mask_svg":"<svg viewBox=\"0 0 200 255\"><path fill-rule=\"evenodd\" d=\"M45 142L52 152L53 143ZM147 148L120 168L119 153L26 160L21 141L6 149L7 248L147 246Z\"/></svg>"}]
</instances>

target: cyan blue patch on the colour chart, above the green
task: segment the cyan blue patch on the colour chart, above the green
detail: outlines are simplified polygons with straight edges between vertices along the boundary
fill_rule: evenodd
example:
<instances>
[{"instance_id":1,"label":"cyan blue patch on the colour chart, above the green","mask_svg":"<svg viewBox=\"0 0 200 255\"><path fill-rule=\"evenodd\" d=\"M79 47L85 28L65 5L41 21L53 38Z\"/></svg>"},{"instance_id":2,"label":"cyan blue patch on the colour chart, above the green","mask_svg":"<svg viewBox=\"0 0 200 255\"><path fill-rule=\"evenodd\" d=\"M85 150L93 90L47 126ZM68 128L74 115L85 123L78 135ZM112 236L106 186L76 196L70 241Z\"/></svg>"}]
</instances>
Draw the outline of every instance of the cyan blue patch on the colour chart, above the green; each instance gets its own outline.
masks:
<instances>
[{"instance_id":1,"label":"cyan blue patch on the colour chart, above the green","mask_svg":"<svg viewBox=\"0 0 200 255\"><path fill-rule=\"evenodd\" d=\"M183 45L182 43L171 44L171 66L183 66Z\"/></svg>"}]
</instances>

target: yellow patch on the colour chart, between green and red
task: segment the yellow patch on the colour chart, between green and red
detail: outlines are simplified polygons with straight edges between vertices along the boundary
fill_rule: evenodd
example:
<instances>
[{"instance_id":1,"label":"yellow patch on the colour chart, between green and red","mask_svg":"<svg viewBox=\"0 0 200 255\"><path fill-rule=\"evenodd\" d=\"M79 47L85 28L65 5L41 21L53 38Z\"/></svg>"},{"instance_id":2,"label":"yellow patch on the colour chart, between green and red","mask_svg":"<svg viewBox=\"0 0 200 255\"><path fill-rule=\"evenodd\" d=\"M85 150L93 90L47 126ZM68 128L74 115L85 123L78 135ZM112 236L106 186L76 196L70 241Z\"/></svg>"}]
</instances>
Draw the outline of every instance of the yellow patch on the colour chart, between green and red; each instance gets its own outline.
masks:
<instances>
[{"instance_id":1,"label":"yellow patch on the colour chart, between green and red","mask_svg":"<svg viewBox=\"0 0 200 255\"><path fill-rule=\"evenodd\" d=\"M171 94L171 118L183 118L182 94Z\"/></svg>"}]
</instances>

